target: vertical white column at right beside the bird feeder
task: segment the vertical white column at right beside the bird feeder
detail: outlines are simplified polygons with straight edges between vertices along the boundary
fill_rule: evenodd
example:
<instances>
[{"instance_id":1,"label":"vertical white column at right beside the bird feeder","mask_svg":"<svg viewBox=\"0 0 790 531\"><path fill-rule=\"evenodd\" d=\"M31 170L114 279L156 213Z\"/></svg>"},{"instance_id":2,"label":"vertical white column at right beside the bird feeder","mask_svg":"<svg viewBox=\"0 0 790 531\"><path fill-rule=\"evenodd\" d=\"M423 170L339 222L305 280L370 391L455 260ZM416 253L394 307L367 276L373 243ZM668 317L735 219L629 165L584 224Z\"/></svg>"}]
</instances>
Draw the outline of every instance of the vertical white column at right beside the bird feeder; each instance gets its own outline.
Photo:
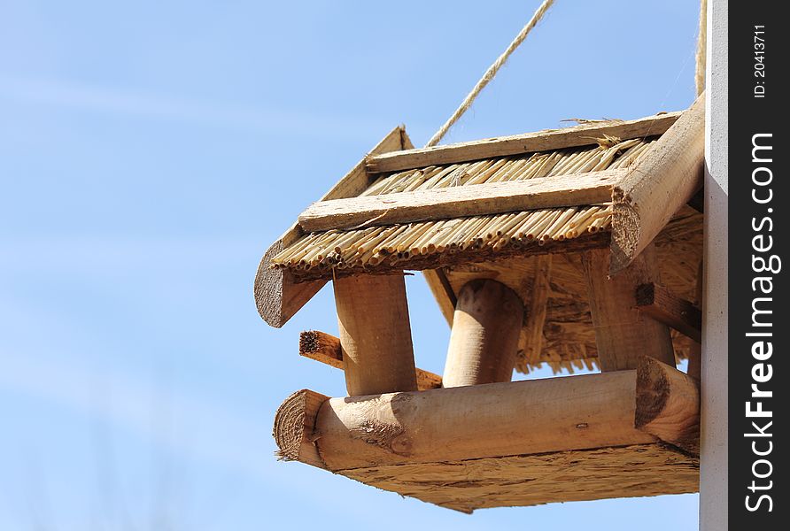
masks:
<instances>
[{"instance_id":1,"label":"vertical white column at right beside the bird feeder","mask_svg":"<svg viewBox=\"0 0 790 531\"><path fill-rule=\"evenodd\" d=\"M727 529L727 0L708 3L700 529Z\"/></svg>"}]
</instances>

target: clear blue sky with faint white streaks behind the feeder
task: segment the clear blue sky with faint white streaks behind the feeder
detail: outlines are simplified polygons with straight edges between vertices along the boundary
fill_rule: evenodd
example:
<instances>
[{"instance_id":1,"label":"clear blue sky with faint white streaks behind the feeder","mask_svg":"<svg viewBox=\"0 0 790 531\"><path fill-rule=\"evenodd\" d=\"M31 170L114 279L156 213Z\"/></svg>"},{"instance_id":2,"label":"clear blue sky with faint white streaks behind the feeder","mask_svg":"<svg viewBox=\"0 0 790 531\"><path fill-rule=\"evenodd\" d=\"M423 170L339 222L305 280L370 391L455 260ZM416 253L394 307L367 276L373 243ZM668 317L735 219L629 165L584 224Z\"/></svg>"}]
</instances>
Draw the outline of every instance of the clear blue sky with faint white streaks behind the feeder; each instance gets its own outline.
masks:
<instances>
[{"instance_id":1,"label":"clear blue sky with faint white streaks behind the feeder","mask_svg":"<svg viewBox=\"0 0 790 531\"><path fill-rule=\"evenodd\" d=\"M345 386L296 353L331 294L267 327L261 254L391 127L426 142L538 4L0 0L0 529L696 529L692 495L466 516L273 457L285 396ZM445 142L685 108L698 8L558 0Z\"/></svg>"}]
</instances>

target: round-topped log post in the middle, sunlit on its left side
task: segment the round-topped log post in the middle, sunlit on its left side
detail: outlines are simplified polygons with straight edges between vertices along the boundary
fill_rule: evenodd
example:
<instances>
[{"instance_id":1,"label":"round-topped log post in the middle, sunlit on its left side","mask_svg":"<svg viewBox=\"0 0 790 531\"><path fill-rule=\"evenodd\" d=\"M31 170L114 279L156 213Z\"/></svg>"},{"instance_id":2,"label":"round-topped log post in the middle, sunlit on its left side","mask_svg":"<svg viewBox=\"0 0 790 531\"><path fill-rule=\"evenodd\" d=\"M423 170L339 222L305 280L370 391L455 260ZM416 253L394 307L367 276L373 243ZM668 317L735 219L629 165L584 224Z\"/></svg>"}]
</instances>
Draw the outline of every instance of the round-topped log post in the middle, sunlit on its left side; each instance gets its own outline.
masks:
<instances>
[{"instance_id":1,"label":"round-topped log post in the middle, sunlit on its left side","mask_svg":"<svg viewBox=\"0 0 790 531\"><path fill-rule=\"evenodd\" d=\"M521 298L498 281L477 279L461 288L442 378L445 388L510 381L523 312Z\"/></svg>"}]
</instances>

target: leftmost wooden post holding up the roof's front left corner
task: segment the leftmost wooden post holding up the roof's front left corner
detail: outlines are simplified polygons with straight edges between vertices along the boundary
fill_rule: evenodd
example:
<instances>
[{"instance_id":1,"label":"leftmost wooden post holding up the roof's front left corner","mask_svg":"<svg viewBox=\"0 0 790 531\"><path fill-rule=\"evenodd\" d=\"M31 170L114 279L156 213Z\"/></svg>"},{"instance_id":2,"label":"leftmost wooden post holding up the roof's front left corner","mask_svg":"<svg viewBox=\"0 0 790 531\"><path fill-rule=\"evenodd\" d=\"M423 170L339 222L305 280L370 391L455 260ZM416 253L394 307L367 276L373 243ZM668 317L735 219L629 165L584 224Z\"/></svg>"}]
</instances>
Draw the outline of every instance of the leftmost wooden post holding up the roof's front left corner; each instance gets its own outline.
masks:
<instances>
[{"instance_id":1,"label":"leftmost wooden post holding up the roof's front left corner","mask_svg":"<svg viewBox=\"0 0 790 531\"><path fill-rule=\"evenodd\" d=\"M417 390L403 276L360 275L333 284L349 396Z\"/></svg>"}]
</instances>

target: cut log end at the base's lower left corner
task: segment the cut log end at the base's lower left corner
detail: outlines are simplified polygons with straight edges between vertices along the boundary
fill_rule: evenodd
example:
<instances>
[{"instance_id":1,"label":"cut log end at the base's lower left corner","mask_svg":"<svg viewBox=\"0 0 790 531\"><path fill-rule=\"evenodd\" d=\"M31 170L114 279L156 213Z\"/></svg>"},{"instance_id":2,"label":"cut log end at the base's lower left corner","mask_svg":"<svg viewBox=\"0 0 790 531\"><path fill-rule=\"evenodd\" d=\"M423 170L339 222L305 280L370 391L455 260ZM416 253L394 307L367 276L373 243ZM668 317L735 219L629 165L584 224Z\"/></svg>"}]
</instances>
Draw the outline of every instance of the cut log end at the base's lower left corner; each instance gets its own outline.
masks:
<instances>
[{"instance_id":1,"label":"cut log end at the base's lower left corner","mask_svg":"<svg viewBox=\"0 0 790 531\"><path fill-rule=\"evenodd\" d=\"M272 435L277 443L275 455L278 459L326 468L314 444L314 426L318 410L327 400L329 396L302 389L277 408Z\"/></svg>"}]
</instances>

